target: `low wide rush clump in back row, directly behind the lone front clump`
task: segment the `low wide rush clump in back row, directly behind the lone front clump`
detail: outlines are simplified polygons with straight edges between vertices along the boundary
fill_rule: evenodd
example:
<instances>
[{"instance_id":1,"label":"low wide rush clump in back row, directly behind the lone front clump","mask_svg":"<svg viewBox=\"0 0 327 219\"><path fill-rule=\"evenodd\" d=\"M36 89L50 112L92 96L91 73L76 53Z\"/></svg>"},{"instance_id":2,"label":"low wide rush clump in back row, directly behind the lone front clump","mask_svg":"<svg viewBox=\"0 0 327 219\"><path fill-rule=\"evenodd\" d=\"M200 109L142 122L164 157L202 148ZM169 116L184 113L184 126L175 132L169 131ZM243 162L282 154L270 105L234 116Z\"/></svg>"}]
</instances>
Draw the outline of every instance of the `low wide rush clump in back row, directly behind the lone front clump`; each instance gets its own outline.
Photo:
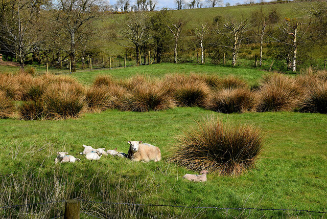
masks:
<instances>
[{"instance_id":1,"label":"low wide rush clump in back row, directly behind the lone front clump","mask_svg":"<svg viewBox=\"0 0 327 219\"><path fill-rule=\"evenodd\" d=\"M221 113L244 113L256 107L256 96L247 89L224 89L211 94L205 108Z\"/></svg>"}]
</instances>

